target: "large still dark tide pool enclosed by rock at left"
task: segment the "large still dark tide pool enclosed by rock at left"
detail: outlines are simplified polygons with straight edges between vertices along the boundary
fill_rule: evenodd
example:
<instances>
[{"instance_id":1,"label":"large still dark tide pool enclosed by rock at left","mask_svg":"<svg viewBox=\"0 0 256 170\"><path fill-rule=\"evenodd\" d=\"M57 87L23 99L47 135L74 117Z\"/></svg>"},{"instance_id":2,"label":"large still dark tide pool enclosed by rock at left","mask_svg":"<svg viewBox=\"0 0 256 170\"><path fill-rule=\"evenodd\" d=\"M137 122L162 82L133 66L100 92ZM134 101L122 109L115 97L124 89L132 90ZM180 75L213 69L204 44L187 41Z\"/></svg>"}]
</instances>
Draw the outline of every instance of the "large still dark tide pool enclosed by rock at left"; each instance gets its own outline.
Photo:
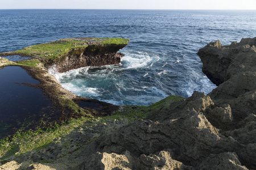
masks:
<instances>
[{"instance_id":1,"label":"large still dark tide pool enclosed by rock at left","mask_svg":"<svg viewBox=\"0 0 256 170\"><path fill-rule=\"evenodd\" d=\"M22 67L8 66L0 70L0 138L19 128L33 128L43 117L57 116L59 112L40 88L24 82L39 83Z\"/></svg>"}]
</instances>

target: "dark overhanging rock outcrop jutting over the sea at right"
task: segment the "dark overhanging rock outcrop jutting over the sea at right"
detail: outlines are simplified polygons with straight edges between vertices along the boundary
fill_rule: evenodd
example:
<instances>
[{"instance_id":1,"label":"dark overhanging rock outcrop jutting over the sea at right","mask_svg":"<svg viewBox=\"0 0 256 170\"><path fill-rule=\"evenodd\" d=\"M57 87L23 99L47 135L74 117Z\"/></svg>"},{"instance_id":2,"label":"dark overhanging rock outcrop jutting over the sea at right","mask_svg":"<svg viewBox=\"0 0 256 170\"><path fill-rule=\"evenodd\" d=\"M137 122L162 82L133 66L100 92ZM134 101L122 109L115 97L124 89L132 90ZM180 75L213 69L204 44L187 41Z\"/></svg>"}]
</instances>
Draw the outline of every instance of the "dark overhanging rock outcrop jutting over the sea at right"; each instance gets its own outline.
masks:
<instances>
[{"instance_id":1,"label":"dark overhanging rock outcrop jutting over the sea at right","mask_svg":"<svg viewBox=\"0 0 256 170\"><path fill-rule=\"evenodd\" d=\"M203 73L217 86L237 75L240 75L241 83L244 82L256 69L255 45L256 37L242 39L240 42L236 41L224 46L219 40L210 42L197 53L203 62ZM246 75L242 76L245 73ZM241 85L246 86L246 84Z\"/></svg>"}]
</instances>

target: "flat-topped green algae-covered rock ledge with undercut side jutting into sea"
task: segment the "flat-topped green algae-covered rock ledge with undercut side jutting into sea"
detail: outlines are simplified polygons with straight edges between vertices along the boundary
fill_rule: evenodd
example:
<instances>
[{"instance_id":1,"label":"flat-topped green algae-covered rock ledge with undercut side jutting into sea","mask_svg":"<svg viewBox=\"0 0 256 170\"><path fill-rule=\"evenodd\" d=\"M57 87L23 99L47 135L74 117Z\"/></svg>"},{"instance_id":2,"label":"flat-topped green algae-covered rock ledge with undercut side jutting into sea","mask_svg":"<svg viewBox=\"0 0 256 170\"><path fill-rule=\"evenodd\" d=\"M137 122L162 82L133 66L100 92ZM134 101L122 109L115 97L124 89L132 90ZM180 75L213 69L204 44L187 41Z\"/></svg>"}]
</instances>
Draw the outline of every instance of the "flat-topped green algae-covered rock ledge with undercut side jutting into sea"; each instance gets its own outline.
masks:
<instances>
[{"instance_id":1,"label":"flat-topped green algae-covered rock ledge with undercut side jutting into sea","mask_svg":"<svg viewBox=\"0 0 256 170\"><path fill-rule=\"evenodd\" d=\"M18 65L46 67L55 66L63 73L85 66L113 65L121 61L123 54L117 53L128 45L128 39L77 37L32 45L0 56L27 56L32 59L18 61Z\"/></svg>"}]
</instances>

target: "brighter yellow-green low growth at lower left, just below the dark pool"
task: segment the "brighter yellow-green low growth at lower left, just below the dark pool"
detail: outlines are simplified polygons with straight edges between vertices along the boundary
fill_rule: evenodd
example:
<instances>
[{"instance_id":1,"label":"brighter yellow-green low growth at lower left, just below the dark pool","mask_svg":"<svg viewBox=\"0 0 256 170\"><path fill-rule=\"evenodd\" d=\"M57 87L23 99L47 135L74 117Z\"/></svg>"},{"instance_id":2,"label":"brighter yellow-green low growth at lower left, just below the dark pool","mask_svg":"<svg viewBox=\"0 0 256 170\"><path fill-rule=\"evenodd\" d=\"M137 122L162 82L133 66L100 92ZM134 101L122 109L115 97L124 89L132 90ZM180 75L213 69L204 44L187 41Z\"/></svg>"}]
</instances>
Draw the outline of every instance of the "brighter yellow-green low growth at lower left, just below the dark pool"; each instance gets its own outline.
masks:
<instances>
[{"instance_id":1,"label":"brighter yellow-green low growth at lower left, just below the dark pool","mask_svg":"<svg viewBox=\"0 0 256 170\"><path fill-rule=\"evenodd\" d=\"M52 128L38 128L26 132L17 131L10 140L10 137L0 140L0 160L5 160L11 156L19 156L28 151L45 148L55 138L61 138L72 130L91 122L93 118L80 117L73 118L65 124L55 124Z\"/></svg>"}]
</instances>

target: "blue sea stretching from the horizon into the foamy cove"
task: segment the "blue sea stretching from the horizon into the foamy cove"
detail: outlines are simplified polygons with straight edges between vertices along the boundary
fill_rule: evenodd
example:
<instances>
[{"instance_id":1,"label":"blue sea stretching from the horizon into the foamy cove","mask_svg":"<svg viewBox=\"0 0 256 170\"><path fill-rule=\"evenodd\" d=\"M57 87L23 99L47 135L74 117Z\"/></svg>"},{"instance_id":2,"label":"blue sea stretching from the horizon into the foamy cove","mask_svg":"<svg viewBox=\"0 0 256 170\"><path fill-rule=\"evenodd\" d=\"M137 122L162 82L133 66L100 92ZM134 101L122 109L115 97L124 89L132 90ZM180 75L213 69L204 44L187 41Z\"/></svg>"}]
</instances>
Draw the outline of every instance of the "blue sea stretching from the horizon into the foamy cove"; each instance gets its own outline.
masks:
<instances>
[{"instance_id":1,"label":"blue sea stretching from the horizon into the foamy cove","mask_svg":"<svg viewBox=\"0 0 256 170\"><path fill-rule=\"evenodd\" d=\"M212 91L197 51L256 36L256 11L0 10L0 52L67 37L123 37L120 65L51 73L77 95L149 105L168 95Z\"/></svg>"}]
</instances>

